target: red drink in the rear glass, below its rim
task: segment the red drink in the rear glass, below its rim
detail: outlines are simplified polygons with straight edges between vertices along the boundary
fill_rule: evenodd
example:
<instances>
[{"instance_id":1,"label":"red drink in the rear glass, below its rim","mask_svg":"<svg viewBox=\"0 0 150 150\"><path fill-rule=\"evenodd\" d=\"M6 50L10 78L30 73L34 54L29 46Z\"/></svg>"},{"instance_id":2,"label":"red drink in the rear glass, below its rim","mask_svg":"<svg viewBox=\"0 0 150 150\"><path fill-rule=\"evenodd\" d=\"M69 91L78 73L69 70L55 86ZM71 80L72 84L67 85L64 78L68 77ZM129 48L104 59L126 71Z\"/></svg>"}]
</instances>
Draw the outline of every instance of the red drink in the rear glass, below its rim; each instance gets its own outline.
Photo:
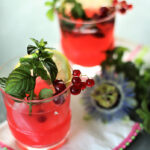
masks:
<instances>
[{"instance_id":1,"label":"red drink in the rear glass, below its rim","mask_svg":"<svg viewBox=\"0 0 150 150\"><path fill-rule=\"evenodd\" d=\"M105 52L114 48L114 20L113 17L101 23L70 23L69 26L69 23L60 19L61 44L65 55L75 64L101 64L106 59Z\"/></svg>"}]
</instances>

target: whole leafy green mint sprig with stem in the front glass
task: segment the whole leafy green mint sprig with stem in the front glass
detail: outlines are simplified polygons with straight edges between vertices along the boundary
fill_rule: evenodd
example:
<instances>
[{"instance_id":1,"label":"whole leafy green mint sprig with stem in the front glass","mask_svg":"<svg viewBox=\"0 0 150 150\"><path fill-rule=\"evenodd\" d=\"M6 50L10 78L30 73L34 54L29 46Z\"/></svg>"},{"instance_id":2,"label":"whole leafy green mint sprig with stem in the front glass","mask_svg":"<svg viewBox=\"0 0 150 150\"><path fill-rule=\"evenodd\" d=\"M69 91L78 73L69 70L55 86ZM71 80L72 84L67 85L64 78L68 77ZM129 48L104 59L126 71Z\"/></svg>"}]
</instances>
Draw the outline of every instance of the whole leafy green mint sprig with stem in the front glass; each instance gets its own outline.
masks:
<instances>
[{"instance_id":1,"label":"whole leafy green mint sprig with stem in the front glass","mask_svg":"<svg viewBox=\"0 0 150 150\"><path fill-rule=\"evenodd\" d=\"M29 94L28 99L29 111L32 112L32 100L34 97L34 88L36 78L41 77L43 80L49 80L53 83L56 79L58 69L52 59L53 53L46 50L47 42L43 39L38 41L31 39L35 45L28 45L27 53L29 57L22 57L8 78L0 78L0 86L4 88L9 95L24 99ZM20 102L20 101L16 101Z\"/></svg>"}]
</instances>

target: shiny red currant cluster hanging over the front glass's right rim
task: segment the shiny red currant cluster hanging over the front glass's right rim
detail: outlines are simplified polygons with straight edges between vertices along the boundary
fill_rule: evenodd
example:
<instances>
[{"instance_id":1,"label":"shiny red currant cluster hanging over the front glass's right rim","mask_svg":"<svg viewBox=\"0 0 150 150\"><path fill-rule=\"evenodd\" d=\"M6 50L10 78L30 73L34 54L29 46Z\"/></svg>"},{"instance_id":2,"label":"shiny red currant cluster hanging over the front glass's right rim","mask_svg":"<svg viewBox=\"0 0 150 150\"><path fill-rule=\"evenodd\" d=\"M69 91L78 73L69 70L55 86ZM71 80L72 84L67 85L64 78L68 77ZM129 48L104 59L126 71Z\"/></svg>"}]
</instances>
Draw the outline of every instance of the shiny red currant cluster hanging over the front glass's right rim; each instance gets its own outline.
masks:
<instances>
[{"instance_id":1,"label":"shiny red currant cluster hanging over the front glass's right rim","mask_svg":"<svg viewBox=\"0 0 150 150\"><path fill-rule=\"evenodd\" d=\"M93 79L87 79L83 82L80 76L80 70L73 70L72 86L70 87L70 92L73 95L78 95L81 93L81 90L84 90L86 87L92 87L95 84Z\"/></svg>"}]
</instances>

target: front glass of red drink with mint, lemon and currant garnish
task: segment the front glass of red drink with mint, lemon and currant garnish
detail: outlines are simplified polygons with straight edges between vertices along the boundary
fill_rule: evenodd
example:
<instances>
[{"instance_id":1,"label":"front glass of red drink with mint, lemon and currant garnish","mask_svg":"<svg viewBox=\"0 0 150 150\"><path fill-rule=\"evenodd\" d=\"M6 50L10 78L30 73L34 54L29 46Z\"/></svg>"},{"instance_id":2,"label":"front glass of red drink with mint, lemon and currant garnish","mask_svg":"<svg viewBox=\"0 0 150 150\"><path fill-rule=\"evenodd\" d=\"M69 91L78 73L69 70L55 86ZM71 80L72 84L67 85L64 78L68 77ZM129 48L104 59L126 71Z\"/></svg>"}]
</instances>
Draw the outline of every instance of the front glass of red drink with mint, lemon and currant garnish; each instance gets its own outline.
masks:
<instances>
[{"instance_id":1,"label":"front glass of red drink with mint, lemon and currant garnish","mask_svg":"<svg viewBox=\"0 0 150 150\"><path fill-rule=\"evenodd\" d=\"M70 95L94 85L82 81L60 52L32 39L28 55L8 62L0 71L0 87L9 128L21 149L52 149L63 145L70 129ZM8 75L8 70L12 72Z\"/></svg>"}]
</instances>

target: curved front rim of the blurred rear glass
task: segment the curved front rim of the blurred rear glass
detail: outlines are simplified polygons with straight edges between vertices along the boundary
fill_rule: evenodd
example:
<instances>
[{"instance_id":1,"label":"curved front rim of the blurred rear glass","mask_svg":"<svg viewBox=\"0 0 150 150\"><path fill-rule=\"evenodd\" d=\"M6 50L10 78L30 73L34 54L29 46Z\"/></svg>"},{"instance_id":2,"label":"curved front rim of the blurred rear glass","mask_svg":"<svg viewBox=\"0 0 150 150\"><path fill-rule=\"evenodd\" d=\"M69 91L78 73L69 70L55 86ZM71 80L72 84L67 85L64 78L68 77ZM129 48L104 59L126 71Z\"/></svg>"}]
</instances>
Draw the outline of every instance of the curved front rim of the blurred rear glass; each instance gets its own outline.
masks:
<instances>
[{"instance_id":1,"label":"curved front rim of the blurred rear glass","mask_svg":"<svg viewBox=\"0 0 150 150\"><path fill-rule=\"evenodd\" d=\"M97 20L83 21L83 22L80 22L78 20L70 20L68 18L63 17L61 15L61 13L58 13L58 12L57 12L57 15L58 15L58 18L66 21L66 22L69 22L69 23L74 23L74 24L97 24L97 23L103 23L103 22L108 21L108 20L112 19L113 17L115 17L116 10L113 13L111 13L109 16L106 16L104 18L100 18L100 19L97 19Z\"/></svg>"}]
</instances>

